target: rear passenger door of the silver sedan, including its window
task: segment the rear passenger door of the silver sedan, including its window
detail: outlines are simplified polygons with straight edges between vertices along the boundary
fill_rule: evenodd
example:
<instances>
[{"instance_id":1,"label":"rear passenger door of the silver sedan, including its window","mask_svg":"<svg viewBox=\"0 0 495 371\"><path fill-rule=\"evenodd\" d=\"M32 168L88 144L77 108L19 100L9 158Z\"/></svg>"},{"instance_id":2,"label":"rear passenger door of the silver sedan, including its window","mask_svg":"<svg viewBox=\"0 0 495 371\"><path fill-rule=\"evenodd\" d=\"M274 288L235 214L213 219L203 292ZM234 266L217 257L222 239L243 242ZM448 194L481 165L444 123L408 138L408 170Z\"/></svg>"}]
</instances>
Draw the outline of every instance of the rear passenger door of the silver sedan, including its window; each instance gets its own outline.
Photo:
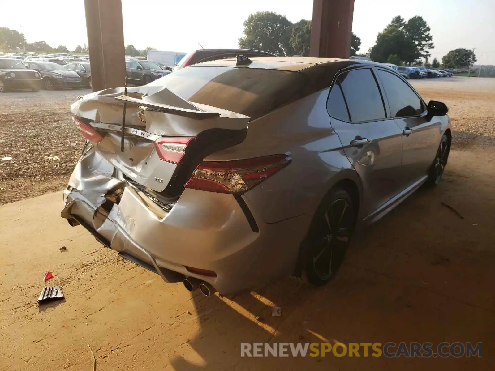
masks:
<instances>
[{"instance_id":1,"label":"rear passenger door of the silver sedan, including its window","mask_svg":"<svg viewBox=\"0 0 495 371\"><path fill-rule=\"evenodd\" d=\"M332 128L361 180L365 218L401 190L402 131L389 117L372 68L340 73L328 99Z\"/></svg>"}]
</instances>

